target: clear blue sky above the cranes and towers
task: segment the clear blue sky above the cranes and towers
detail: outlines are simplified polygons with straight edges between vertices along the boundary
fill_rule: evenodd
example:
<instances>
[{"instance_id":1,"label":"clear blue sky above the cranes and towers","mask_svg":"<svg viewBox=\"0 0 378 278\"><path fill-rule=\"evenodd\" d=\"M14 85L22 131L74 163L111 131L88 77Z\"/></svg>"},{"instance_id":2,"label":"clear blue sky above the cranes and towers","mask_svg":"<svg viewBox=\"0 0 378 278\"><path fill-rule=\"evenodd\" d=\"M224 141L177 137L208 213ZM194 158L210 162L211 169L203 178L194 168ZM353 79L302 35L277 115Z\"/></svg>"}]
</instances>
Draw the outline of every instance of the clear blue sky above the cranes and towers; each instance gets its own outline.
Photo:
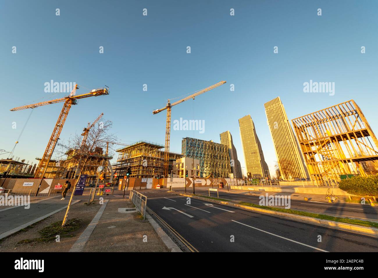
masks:
<instances>
[{"instance_id":1,"label":"clear blue sky above the cranes and towers","mask_svg":"<svg viewBox=\"0 0 378 278\"><path fill-rule=\"evenodd\" d=\"M166 113L152 110L168 98L226 80L172 108L172 123L180 117L204 120L205 129L172 125L170 150L181 153L182 137L219 142L219 134L229 130L244 166L238 119L251 114L273 171L277 159L263 103L277 96L289 120L354 99L377 132L377 10L377 1L345 0L2 0L0 149L11 151L31 112L9 109L67 95L45 93L51 79L82 85L78 93L110 87L108 96L82 99L71 108L60 138L81 133L103 112L119 141L163 145ZM335 95L304 93L303 83L311 79L335 82ZM34 109L14 156L33 162L42 156L61 109L61 103Z\"/></svg>"}]
</instances>

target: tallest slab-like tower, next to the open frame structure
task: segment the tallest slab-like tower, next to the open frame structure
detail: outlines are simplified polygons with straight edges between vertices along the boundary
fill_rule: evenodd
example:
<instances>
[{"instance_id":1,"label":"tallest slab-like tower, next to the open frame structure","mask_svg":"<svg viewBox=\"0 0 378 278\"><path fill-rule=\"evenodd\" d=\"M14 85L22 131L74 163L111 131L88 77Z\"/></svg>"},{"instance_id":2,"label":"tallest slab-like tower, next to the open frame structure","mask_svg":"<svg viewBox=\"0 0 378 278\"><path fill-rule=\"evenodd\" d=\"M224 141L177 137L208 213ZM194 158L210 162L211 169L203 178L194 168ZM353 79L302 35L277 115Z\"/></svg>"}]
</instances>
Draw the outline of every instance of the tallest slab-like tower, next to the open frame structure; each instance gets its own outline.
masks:
<instances>
[{"instance_id":1,"label":"tallest slab-like tower, next to the open frame structure","mask_svg":"<svg viewBox=\"0 0 378 278\"><path fill-rule=\"evenodd\" d=\"M308 179L304 159L280 97L264 103L264 106L282 178Z\"/></svg>"}]
</instances>

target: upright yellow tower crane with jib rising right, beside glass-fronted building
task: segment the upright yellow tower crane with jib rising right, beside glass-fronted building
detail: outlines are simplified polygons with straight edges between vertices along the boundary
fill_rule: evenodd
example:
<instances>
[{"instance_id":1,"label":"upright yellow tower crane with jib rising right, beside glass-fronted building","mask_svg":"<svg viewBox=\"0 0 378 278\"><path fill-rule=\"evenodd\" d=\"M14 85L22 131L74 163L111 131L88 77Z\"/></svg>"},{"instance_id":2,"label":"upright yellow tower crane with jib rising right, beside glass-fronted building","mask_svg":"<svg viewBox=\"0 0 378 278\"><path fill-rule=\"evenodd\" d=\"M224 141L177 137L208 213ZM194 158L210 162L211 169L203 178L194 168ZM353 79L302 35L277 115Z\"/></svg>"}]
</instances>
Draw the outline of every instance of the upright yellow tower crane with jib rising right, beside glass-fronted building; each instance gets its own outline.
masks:
<instances>
[{"instance_id":1,"label":"upright yellow tower crane with jib rising right, beside glass-fronted building","mask_svg":"<svg viewBox=\"0 0 378 278\"><path fill-rule=\"evenodd\" d=\"M161 109L156 109L152 111L152 114L157 114L160 113L161 111L167 110L167 120L166 120L166 139L165 139L165 148L164 148L164 177L168 177L168 167L169 167L169 141L170 141L170 115L171 115L171 108L172 106L175 106L181 102L184 102L185 100L188 99L194 99L196 96L199 96L200 94L203 94L207 91L210 91L214 88L217 88L220 85L223 85L226 83L226 81L220 81L210 87L204 88L200 91L197 91L194 94L191 94L190 96L184 97L181 100L178 100L177 102L170 103L170 100L168 99L168 103L166 107L161 108Z\"/></svg>"}]
</instances>

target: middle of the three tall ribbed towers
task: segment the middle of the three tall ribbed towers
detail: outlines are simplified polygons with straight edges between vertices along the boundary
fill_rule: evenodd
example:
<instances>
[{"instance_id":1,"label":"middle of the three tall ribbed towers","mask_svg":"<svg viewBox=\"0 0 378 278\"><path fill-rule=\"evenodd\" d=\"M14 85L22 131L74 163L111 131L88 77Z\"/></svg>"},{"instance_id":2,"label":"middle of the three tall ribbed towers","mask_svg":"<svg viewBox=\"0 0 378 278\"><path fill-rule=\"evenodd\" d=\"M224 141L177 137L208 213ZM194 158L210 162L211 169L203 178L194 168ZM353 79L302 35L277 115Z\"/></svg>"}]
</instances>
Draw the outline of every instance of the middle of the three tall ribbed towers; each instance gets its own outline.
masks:
<instances>
[{"instance_id":1,"label":"middle of the three tall ribbed towers","mask_svg":"<svg viewBox=\"0 0 378 278\"><path fill-rule=\"evenodd\" d=\"M247 175L250 173L253 179L270 178L268 165L265 162L251 115L239 119L239 128Z\"/></svg>"}]
</instances>

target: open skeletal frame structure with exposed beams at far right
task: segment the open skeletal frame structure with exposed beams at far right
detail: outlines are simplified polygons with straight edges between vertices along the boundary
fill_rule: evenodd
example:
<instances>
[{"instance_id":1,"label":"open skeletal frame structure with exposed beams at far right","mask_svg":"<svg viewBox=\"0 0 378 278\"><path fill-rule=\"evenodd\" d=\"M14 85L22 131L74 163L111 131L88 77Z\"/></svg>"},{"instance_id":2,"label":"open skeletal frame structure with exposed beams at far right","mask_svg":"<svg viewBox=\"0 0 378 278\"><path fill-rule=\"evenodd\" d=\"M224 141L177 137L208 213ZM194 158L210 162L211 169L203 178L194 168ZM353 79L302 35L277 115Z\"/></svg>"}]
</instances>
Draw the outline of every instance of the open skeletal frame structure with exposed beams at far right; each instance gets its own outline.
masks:
<instances>
[{"instance_id":1,"label":"open skeletal frame structure with exposed beams at far right","mask_svg":"<svg viewBox=\"0 0 378 278\"><path fill-rule=\"evenodd\" d=\"M354 100L292 120L313 181L328 184L375 168L378 142Z\"/></svg>"}]
</instances>

